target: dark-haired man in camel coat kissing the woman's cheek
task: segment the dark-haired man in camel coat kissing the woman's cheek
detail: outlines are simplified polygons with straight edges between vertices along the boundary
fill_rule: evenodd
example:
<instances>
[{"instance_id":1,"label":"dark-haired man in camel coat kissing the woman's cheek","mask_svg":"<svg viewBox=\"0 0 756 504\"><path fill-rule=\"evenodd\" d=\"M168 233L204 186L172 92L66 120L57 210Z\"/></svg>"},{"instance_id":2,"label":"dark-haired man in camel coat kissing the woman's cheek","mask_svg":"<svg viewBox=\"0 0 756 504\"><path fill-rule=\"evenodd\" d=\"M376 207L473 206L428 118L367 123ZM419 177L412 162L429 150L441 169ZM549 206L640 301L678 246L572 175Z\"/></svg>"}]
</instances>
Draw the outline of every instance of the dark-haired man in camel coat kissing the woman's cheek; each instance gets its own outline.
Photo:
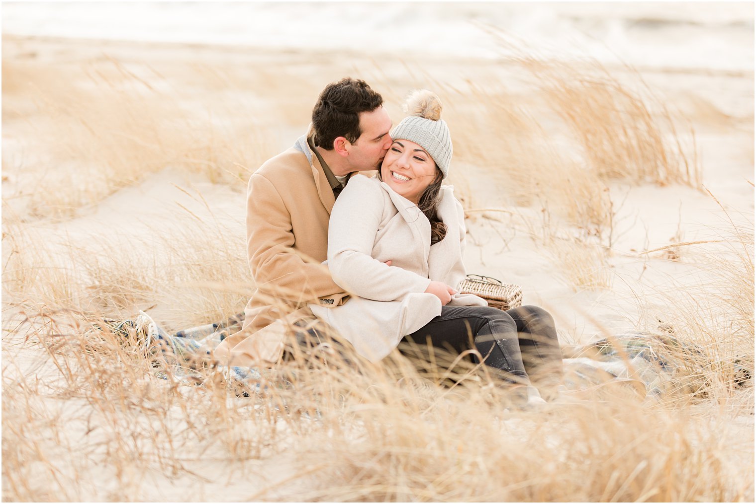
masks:
<instances>
[{"instance_id":1,"label":"dark-haired man in camel coat kissing the woman's cheek","mask_svg":"<svg viewBox=\"0 0 756 504\"><path fill-rule=\"evenodd\" d=\"M307 134L249 178L247 259L256 291L243 329L215 350L219 361L243 366L255 358L277 360L292 313L311 315L306 303L313 300L327 306L345 300L321 265L330 211L350 174L380 168L391 125L380 94L364 81L342 78L318 97Z\"/></svg>"}]
</instances>

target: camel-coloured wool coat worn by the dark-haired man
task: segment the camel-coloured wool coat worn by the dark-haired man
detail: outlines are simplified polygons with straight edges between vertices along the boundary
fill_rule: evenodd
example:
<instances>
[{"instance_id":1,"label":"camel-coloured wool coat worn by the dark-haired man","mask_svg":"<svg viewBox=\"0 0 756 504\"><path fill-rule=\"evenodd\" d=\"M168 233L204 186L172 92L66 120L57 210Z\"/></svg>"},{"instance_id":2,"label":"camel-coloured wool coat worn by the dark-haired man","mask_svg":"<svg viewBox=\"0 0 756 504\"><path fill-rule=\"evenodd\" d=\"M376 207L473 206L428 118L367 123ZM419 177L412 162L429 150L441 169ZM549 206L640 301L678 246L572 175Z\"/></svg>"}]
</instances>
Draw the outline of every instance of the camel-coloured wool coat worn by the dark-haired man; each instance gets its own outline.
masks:
<instances>
[{"instance_id":1,"label":"camel-coloured wool coat worn by the dark-haired man","mask_svg":"<svg viewBox=\"0 0 756 504\"><path fill-rule=\"evenodd\" d=\"M246 250L256 290L244 309L243 329L215 349L218 361L234 365L251 365L255 358L276 361L285 328L268 331L274 334L271 344L263 343L265 349L260 347L265 337L259 331L280 325L293 312L308 315L303 313L309 312L308 302L339 306L348 297L322 264L336 198L308 145L313 135L310 125L293 147L265 161L249 177Z\"/></svg>"}]
</instances>

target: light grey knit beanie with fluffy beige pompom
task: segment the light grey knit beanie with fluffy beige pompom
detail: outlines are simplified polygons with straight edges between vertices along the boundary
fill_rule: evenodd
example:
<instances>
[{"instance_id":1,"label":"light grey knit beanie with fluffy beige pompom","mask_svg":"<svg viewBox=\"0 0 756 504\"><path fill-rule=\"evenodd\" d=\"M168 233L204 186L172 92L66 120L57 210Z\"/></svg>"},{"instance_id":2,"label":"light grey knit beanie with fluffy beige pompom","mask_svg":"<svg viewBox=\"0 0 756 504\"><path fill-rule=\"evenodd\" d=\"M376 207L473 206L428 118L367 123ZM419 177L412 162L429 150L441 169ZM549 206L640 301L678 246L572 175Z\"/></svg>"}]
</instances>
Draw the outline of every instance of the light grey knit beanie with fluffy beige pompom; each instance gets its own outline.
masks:
<instances>
[{"instance_id":1,"label":"light grey knit beanie with fluffy beige pompom","mask_svg":"<svg viewBox=\"0 0 756 504\"><path fill-rule=\"evenodd\" d=\"M404 103L407 117L391 132L393 140L410 140L426 149L446 177L451 163L451 135L441 118L441 100L426 89L414 91Z\"/></svg>"}]
</instances>

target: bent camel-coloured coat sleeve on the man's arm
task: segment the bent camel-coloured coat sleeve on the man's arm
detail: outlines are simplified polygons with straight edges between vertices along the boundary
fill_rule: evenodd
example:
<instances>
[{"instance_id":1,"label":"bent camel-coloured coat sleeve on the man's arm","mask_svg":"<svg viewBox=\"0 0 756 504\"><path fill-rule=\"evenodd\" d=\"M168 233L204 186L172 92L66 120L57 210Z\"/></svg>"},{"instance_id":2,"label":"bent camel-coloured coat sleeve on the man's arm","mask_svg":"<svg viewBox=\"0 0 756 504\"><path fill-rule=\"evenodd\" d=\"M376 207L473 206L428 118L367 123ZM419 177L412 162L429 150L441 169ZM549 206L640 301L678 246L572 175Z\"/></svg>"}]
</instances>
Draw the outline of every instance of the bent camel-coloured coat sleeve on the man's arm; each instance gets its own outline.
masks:
<instances>
[{"instance_id":1,"label":"bent camel-coloured coat sleeve on the man's arm","mask_svg":"<svg viewBox=\"0 0 756 504\"><path fill-rule=\"evenodd\" d=\"M261 174L249 179L246 215L247 258L259 290L295 302L342 292L325 266L307 262L294 250L289 209Z\"/></svg>"}]
</instances>

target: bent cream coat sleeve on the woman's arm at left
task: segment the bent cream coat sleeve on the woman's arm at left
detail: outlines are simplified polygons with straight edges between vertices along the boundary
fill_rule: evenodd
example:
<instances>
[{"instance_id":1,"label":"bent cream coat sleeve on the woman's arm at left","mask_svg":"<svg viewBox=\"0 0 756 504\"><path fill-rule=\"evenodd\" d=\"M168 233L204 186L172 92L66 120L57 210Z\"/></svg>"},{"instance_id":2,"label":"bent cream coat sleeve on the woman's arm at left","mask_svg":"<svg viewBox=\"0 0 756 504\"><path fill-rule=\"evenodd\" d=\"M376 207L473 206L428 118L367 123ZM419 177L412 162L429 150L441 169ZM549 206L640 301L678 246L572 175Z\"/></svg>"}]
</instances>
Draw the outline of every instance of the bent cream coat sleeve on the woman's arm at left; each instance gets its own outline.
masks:
<instances>
[{"instance_id":1,"label":"bent cream coat sleeve on the woman's arm at left","mask_svg":"<svg viewBox=\"0 0 756 504\"><path fill-rule=\"evenodd\" d=\"M371 253L383 218L382 189L366 177L355 176L331 211L328 268L336 284L374 301L399 301L422 293L429 278L373 259Z\"/></svg>"}]
</instances>

